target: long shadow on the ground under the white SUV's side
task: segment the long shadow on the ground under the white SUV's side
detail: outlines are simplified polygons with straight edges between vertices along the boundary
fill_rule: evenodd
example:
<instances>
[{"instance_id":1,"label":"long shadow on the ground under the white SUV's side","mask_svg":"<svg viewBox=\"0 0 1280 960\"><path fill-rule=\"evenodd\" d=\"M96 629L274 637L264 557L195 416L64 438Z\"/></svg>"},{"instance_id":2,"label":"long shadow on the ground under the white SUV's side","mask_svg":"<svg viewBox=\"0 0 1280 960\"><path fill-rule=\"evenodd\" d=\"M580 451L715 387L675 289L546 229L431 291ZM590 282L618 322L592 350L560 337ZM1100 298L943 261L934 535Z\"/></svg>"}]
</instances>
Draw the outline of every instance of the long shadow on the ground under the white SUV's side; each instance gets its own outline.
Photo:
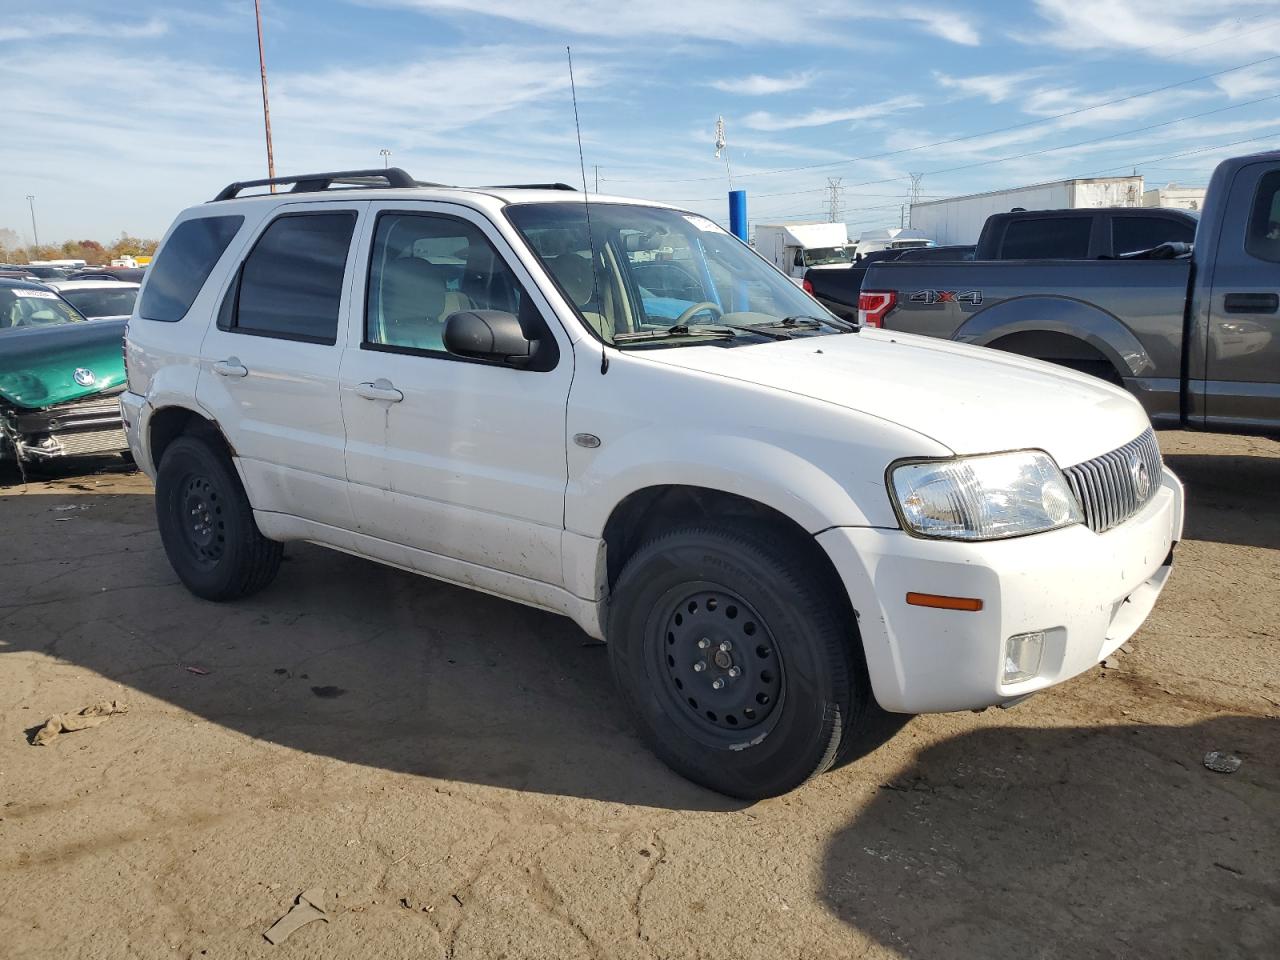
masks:
<instances>
[{"instance_id":1,"label":"long shadow on the ground under the white SUV's side","mask_svg":"<svg viewBox=\"0 0 1280 960\"><path fill-rule=\"evenodd\" d=\"M113 480L82 488L95 483ZM148 490L129 483L140 489L0 490L0 669L5 655L42 652L349 763L627 804L741 806L654 759L614 695L604 646L571 621L308 544L287 547L257 596L198 600L165 559ZM120 691L104 684L102 695Z\"/></svg>"}]
</instances>

